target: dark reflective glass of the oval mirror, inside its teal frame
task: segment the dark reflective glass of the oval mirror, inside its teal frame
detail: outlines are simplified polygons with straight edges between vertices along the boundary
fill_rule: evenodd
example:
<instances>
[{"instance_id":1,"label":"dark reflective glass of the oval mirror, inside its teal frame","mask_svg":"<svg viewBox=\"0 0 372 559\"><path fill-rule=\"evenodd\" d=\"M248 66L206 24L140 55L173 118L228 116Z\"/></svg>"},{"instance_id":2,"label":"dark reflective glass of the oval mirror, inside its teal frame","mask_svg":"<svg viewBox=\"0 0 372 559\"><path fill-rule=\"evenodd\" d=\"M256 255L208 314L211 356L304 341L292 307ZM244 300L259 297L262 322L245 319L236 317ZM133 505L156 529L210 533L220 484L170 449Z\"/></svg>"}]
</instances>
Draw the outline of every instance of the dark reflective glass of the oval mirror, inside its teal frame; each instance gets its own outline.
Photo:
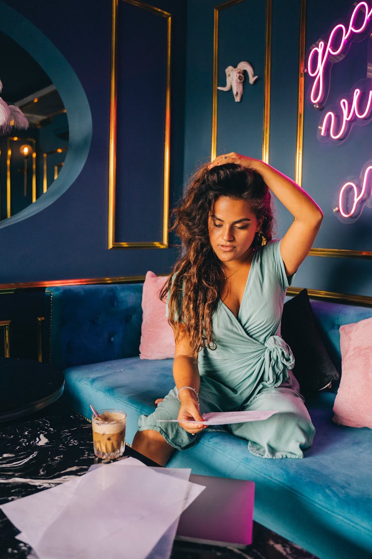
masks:
<instances>
[{"instance_id":1,"label":"dark reflective glass of the oval mirror, inside its teal frame","mask_svg":"<svg viewBox=\"0 0 372 559\"><path fill-rule=\"evenodd\" d=\"M69 125L49 76L2 31L0 52L7 53L0 63L0 97L6 105L18 107L20 117L9 117L8 124L0 126L0 220L4 220L36 202L58 177L67 154ZM24 126L22 115L27 119Z\"/></svg>"}]
</instances>

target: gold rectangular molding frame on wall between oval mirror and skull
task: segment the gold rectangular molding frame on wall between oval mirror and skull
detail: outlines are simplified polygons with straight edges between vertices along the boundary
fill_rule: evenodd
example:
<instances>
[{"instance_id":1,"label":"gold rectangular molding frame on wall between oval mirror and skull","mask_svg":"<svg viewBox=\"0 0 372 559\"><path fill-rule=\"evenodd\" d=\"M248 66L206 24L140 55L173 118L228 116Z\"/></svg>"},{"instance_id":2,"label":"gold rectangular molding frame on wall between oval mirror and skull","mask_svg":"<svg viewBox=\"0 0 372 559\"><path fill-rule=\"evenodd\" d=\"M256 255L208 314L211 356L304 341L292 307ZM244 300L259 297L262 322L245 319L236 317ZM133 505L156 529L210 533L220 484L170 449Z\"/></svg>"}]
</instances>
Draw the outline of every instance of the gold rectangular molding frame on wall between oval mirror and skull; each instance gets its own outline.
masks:
<instances>
[{"instance_id":1,"label":"gold rectangular molding frame on wall between oval mirror and skull","mask_svg":"<svg viewBox=\"0 0 372 559\"><path fill-rule=\"evenodd\" d=\"M117 149L117 44L118 2L132 4L167 19L167 54L166 54L166 108L163 162L163 231L161 241L148 243L125 243L115 240L115 195L116 195L116 149ZM170 182L170 138L171 138L171 27L172 15L139 0L113 0L112 3L112 55L111 55L111 94L110 94L110 140L109 140L109 212L108 212L108 248L167 248L169 229L169 182Z\"/></svg>"}]
</instances>

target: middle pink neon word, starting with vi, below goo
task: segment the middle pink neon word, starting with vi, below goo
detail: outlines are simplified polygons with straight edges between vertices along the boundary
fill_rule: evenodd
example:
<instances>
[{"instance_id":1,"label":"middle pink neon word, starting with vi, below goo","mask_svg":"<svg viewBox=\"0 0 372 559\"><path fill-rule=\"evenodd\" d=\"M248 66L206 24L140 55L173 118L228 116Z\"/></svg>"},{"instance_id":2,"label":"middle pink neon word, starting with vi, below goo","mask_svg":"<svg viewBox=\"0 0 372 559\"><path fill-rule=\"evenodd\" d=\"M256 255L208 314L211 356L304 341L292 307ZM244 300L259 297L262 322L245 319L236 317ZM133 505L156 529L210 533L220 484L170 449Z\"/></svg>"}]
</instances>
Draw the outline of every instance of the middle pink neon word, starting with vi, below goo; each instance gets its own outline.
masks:
<instances>
[{"instance_id":1,"label":"middle pink neon word, starting with vi, below goo","mask_svg":"<svg viewBox=\"0 0 372 559\"><path fill-rule=\"evenodd\" d=\"M372 89L370 80L362 80L349 99L341 98L336 107L321 118L318 138L322 141L345 140L352 126L366 125L372 119ZM363 86L367 87L363 87ZM368 91L369 89L369 91Z\"/></svg>"}]
</instances>

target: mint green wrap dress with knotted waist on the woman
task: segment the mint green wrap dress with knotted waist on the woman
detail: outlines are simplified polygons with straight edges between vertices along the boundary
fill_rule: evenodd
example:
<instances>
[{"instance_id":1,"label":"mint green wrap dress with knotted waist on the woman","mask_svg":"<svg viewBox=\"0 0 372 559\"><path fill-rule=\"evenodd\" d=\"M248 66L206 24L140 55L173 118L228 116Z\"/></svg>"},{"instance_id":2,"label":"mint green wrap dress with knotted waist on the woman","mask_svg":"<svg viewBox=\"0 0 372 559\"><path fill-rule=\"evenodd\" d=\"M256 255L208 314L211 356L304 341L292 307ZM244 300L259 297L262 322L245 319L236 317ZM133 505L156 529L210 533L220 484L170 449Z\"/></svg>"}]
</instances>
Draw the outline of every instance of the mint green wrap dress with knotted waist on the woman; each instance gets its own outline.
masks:
<instances>
[{"instance_id":1,"label":"mint green wrap dress with knotted waist on the woman","mask_svg":"<svg viewBox=\"0 0 372 559\"><path fill-rule=\"evenodd\" d=\"M291 371L292 350L280 337L289 285L280 244L272 241L254 253L237 318L219 301L212 317L217 347L198 356L200 413L277 410L264 421L230 424L227 430L247 440L257 456L302 458L315 428ZM174 388L151 415L139 418L139 430L156 430L177 449L196 444L207 429L191 435L178 423L158 421L177 419L179 408Z\"/></svg>"}]
</instances>

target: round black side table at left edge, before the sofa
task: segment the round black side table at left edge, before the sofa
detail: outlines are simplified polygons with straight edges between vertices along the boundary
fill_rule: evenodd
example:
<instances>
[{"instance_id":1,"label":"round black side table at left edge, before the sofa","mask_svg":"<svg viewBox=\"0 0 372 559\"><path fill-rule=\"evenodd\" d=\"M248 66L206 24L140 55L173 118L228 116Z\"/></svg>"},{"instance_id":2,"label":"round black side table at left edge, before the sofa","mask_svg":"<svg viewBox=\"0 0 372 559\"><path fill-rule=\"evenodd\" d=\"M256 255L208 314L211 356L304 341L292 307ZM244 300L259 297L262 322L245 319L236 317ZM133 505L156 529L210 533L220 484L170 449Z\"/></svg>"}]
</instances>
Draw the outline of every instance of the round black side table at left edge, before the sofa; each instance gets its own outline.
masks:
<instances>
[{"instance_id":1,"label":"round black side table at left edge, before the sofa","mask_svg":"<svg viewBox=\"0 0 372 559\"><path fill-rule=\"evenodd\" d=\"M47 363L0 357L0 421L40 410L61 396L65 379Z\"/></svg>"}]
</instances>

